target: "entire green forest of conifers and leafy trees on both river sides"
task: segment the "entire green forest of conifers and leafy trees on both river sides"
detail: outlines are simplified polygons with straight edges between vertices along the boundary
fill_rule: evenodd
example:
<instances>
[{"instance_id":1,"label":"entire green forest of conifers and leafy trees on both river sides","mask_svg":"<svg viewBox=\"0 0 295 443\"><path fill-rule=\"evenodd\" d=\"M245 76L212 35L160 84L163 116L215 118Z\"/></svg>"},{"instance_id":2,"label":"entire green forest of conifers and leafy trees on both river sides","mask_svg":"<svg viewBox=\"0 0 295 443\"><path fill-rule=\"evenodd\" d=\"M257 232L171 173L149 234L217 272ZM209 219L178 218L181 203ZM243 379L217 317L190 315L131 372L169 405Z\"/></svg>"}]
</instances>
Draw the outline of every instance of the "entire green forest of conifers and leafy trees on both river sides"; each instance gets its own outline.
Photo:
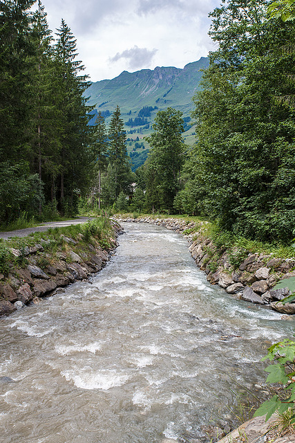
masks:
<instances>
[{"instance_id":1,"label":"entire green forest of conifers and leafy trees on both river sides","mask_svg":"<svg viewBox=\"0 0 295 443\"><path fill-rule=\"evenodd\" d=\"M84 202L199 215L236 235L290 242L294 1L221 1L210 13L216 51L193 98L196 143L184 145L180 111L158 111L149 156L135 173L119 107L106 128L102 112L87 105L90 83L70 27L61 19L53 35L40 0L31 12L34 3L0 3L1 226L74 215Z\"/></svg>"}]
</instances>

